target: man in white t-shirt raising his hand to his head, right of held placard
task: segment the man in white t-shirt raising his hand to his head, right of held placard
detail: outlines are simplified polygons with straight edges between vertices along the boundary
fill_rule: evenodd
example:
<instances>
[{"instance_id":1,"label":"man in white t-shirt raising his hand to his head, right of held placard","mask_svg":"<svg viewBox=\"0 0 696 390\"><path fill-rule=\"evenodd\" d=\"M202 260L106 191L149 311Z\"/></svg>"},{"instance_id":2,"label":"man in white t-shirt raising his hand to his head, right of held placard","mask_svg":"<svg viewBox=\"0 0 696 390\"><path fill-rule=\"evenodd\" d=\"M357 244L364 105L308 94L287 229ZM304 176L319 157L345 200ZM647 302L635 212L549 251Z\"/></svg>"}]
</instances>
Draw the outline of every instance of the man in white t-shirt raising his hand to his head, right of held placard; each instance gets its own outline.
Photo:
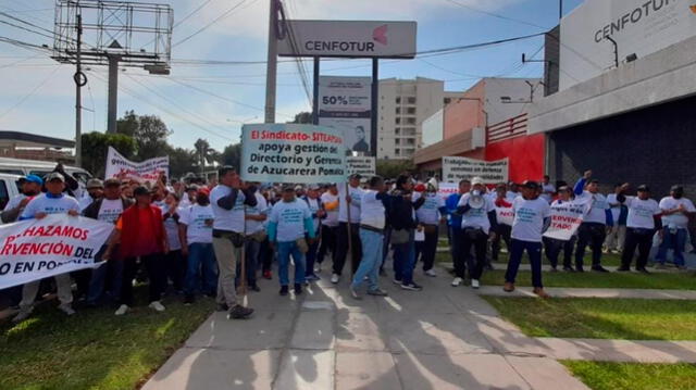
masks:
<instances>
[{"instance_id":1,"label":"man in white t-shirt raising his hand to his head, right of held placard","mask_svg":"<svg viewBox=\"0 0 696 390\"><path fill-rule=\"evenodd\" d=\"M585 189L586 186L586 189ZM575 202L587 204L587 214L577 228L577 247L575 248L575 271L584 271L585 248L592 249L592 271L608 273L601 266L601 246L607 237L607 226L613 226L607 198L599 193L599 180L592 179L592 171L586 171L574 187Z\"/></svg>"}]
</instances>

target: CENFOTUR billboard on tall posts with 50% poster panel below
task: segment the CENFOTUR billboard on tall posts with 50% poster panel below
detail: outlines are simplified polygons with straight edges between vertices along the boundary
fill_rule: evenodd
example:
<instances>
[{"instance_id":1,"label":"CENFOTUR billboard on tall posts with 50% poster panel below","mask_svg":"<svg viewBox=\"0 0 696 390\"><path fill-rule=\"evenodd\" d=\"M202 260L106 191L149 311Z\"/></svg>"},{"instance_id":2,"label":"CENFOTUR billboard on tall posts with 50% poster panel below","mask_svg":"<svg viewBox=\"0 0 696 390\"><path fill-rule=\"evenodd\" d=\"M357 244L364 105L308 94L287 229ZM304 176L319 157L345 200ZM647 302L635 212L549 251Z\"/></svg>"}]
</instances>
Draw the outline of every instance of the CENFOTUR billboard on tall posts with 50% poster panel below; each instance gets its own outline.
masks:
<instances>
[{"instance_id":1,"label":"CENFOTUR billboard on tall posts with 50% poster panel below","mask_svg":"<svg viewBox=\"0 0 696 390\"><path fill-rule=\"evenodd\" d=\"M376 156L378 59L413 59L417 23L284 21L282 26L278 55L314 59L313 124L350 128L345 135L347 149ZM320 81L322 56L372 59L372 78L325 77Z\"/></svg>"}]
</instances>

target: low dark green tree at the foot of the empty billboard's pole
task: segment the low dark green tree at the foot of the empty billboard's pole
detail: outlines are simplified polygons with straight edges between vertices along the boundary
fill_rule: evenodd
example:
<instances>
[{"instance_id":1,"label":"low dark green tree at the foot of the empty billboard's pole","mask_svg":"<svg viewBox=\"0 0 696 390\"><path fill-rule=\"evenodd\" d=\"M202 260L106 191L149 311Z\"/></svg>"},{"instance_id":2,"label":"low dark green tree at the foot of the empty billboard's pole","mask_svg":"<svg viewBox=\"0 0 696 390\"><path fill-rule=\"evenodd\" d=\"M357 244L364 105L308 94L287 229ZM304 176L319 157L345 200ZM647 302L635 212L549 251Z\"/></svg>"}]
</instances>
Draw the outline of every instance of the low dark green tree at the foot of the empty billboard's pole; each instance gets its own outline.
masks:
<instances>
[{"instance_id":1,"label":"low dark green tree at the foot of the empty billboard's pole","mask_svg":"<svg viewBox=\"0 0 696 390\"><path fill-rule=\"evenodd\" d=\"M83 134L83 167L97 177L103 177L109 147L113 147L126 159L135 154L136 143L124 134L103 134L98 131Z\"/></svg>"}]
</instances>

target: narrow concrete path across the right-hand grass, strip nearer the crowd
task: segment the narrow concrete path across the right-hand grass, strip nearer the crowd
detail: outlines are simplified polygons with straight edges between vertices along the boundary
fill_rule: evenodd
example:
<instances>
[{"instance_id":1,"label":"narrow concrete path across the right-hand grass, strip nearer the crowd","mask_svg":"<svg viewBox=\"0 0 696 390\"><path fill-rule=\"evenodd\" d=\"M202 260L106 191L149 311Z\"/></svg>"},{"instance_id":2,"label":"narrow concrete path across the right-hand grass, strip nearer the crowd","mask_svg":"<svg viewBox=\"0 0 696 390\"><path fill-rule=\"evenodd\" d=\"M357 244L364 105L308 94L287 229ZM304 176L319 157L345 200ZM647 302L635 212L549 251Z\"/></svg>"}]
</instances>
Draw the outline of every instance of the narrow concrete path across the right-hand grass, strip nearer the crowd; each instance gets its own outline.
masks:
<instances>
[{"instance_id":1,"label":"narrow concrete path across the right-hand grass, strip nearer the crowd","mask_svg":"<svg viewBox=\"0 0 696 390\"><path fill-rule=\"evenodd\" d=\"M673 299L696 300L695 290L656 290L656 289L609 289L609 288L570 288L546 287L554 298L625 298L625 299ZM480 295L532 297L532 287L517 287L512 292L502 291L502 286L482 286L475 290Z\"/></svg>"}]
</instances>

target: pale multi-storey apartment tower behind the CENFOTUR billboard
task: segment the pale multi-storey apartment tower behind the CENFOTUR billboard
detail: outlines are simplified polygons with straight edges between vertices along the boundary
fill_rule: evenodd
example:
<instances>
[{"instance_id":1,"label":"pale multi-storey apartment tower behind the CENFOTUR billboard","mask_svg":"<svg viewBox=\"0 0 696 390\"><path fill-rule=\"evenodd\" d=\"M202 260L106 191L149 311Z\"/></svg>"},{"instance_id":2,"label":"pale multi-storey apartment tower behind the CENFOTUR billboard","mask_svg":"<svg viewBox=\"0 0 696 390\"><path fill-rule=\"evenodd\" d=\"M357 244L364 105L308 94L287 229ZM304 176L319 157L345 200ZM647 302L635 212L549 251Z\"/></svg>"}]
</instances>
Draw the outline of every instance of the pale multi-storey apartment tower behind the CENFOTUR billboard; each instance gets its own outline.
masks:
<instances>
[{"instance_id":1,"label":"pale multi-storey apartment tower behind the CENFOTUR billboard","mask_svg":"<svg viewBox=\"0 0 696 390\"><path fill-rule=\"evenodd\" d=\"M423 122L459 96L431 78L380 80L377 159L412 158L423 146Z\"/></svg>"}]
</instances>

